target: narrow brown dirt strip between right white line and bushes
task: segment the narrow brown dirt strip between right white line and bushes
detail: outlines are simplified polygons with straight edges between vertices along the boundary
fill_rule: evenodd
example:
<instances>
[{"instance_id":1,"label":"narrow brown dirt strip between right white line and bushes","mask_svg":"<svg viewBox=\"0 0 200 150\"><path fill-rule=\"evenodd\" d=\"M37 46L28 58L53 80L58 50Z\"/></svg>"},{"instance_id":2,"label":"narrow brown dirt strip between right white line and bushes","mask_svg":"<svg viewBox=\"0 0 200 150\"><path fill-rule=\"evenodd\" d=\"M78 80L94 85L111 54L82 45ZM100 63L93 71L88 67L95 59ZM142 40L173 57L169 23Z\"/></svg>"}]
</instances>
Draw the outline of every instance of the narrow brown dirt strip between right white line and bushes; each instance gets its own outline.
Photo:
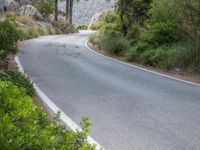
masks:
<instances>
[{"instance_id":1,"label":"narrow brown dirt strip between right white line and bushes","mask_svg":"<svg viewBox=\"0 0 200 150\"><path fill-rule=\"evenodd\" d=\"M147 70L151 70L151 71L162 73L162 74L165 74L165 75L168 75L168 76L172 76L172 77L175 77L175 78L178 78L178 79L182 79L182 80L186 80L186 81L190 81L190 82L193 82L193 83L200 84L200 74L187 73L187 72L175 71L175 70L163 70L163 69L155 68L155 67L152 67L152 66L143 65L141 63L127 62L123 59L123 57L112 55L112 54L105 52L103 50L99 50L95 45L93 45L91 43L88 43L88 46L91 49L95 50L96 52L103 54L105 56L114 58L116 60L119 60L119 61L122 61L122 62L125 62L125 63L129 63L129 64L132 64L132 65L135 65L135 66L147 69Z\"/></svg>"}]
</instances>

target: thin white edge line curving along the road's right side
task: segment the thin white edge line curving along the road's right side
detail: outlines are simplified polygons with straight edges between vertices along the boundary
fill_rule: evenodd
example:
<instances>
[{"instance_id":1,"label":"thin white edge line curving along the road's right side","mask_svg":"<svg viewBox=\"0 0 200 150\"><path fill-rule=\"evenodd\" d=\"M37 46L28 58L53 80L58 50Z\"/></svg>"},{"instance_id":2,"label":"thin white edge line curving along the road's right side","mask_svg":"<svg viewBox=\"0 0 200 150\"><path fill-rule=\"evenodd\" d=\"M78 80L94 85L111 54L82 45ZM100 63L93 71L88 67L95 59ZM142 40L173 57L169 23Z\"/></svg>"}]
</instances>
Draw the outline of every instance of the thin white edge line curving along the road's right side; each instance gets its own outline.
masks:
<instances>
[{"instance_id":1,"label":"thin white edge line curving along the road's right side","mask_svg":"<svg viewBox=\"0 0 200 150\"><path fill-rule=\"evenodd\" d=\"M150 73L153 73L153 74L156 74L156 75L165 77L165 78L177 80L177 81L179 81L179 82L184 82L184 83L187 83L187 84L191 84L191 85L200 87L200 84L197 84L197 83L193 83L193 82L190 82L190 81L178 79L178 78L175 78L175 77L172 77L172 76L168 76L168 75L166 75L166 74L162 74L162 73L158 73L158 72L151 71L151 70L148 70L148 69L144 69L144 68L142 68L142 67L138 67L138 66L136 66L136 65L132 65L132 64L129 64L129 63L125 63L125 62L122 62L122 61L113 59L113 58L111 58L111 57L105 56L105 55L103 55L103 54L101 54L101 53L98 53L98 52L96 52L95 50L91 49L91 48L88 46L88 40L85 41L85 46L86 46L91 52L93 52L93 53L95 53L95 54L97 54L97 55L103 56L103 57L105 57L105 58L107 58L107 59L110 59L110 60L112 60L112 61L118 62L118 63L120 63L120 64L127 65L127 66L131 66L131 67L134 67L134 68L137 68L137 69L146 71L146 72L150 72Z\"/></svg>"}]
</instances>

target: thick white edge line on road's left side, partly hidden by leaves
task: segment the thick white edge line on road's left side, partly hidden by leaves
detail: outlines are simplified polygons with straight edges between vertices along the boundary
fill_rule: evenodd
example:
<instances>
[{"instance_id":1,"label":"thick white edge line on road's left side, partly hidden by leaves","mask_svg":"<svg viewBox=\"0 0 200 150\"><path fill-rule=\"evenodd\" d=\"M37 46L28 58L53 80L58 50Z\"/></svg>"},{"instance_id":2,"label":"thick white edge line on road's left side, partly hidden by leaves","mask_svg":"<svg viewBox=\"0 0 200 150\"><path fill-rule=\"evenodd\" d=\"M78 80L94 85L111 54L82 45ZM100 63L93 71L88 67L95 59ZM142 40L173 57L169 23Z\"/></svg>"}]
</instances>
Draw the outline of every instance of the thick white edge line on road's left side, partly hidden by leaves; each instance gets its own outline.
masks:
<instances>
[{"instance_id":1,"label":"thick white edge line on road's left side, partly hidden by leaves","mask_svg":"<svg viewBox=\"0 0 200 150\"><path fill-rule=\"evenodd\" d=\"M15 57L15 62L17 63L18 69L20 72L25 73L24 69L19 61L19 57L16 56ZM33 80L31 80L33 82ZM72 120L70 119L58 106L56 106L56 104L54 104L48 97L47 95L45 95L40 88L33 82L33 86L36 90L36 92L38 93L38 95L41 97L41 99L43 100L43 102L47 105L48 108L51 109L51 111L53 111L55 114L57 112L61 112L60 113L60 119L66 124L67 127L69 127L72 131L76 131L76 130L81 130L81 128ZM88 142L90 144L94 144L96 145L96 149L97 150L105 150L100 144L98 144L92 137L88 136Z\"/></svg>"}]
</instances>

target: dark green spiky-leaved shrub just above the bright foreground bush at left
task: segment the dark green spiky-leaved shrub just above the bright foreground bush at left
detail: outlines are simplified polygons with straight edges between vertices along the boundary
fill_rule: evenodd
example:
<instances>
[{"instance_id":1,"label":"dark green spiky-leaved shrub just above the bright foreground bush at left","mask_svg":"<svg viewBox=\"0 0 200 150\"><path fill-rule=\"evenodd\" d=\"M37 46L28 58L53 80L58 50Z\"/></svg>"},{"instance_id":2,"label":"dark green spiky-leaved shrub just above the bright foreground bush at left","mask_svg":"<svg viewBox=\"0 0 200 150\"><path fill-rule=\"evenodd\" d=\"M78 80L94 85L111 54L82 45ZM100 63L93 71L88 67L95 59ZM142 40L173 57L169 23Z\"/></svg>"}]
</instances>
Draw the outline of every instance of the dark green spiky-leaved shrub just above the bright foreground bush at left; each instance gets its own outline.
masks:
<instances>
[{"instance_id":1,"label":"dark green spiky-leaved shrub just above the bright foreground bush at left","mask_svg":"<svg viewBox=\"0 0 200 150\"><path fill-rule=\"evenodd\" d=\"M33 83L30 79L19 71L7 70L0 73L0 80L2 81L11 81L13 84L18 87L22 87L25 89L26 94L30 96L34 96L34 88Z\"/></svg>"}]
</instances>

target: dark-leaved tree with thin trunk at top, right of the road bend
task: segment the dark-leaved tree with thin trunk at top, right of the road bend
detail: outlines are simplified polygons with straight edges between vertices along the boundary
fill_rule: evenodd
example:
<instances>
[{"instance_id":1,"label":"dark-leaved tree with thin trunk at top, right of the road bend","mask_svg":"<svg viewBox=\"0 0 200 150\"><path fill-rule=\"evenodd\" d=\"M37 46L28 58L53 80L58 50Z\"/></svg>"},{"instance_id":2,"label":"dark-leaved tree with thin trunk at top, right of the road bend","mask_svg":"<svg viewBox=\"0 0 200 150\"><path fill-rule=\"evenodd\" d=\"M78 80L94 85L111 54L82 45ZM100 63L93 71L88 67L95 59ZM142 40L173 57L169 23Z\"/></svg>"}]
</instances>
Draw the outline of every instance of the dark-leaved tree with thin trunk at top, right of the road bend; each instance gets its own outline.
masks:
<instances>
[{"instance_id":1,"label":"dark-leaved tree with thin trunk at top, right of the road bend","mask_svg":"<svg viewBox=\"0 0 200 150\"><path fill-rule=\"evenodd\" d=\"M135 22L142 22L148 17L152 0L118 0L116 10L120 16L121 31L124 35Z\"/></svg>"}]
</instances>

